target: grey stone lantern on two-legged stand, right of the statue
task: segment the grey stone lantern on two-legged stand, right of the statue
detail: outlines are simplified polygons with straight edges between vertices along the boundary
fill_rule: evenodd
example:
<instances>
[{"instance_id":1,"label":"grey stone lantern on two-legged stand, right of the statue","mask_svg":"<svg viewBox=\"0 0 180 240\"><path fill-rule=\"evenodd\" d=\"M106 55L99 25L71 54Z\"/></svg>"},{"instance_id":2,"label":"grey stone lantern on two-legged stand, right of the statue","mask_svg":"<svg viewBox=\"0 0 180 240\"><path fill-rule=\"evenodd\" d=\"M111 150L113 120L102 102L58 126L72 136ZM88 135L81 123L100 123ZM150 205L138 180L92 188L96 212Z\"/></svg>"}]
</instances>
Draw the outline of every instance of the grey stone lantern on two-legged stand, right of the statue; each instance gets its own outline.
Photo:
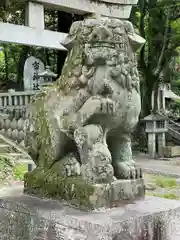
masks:
<instances>
[{"instance_id":1,"label":"grey stone lantern on two-legged stand, right of the statue","mask_svg":"<svg viewBox=\"0 0 180 240\"><path fill-rule=\"evenodd\" d=\"M150 114L144 118L144 121L146 122L145 131L148 134L148 153L150 158L155 158L157 154L159 157L164 157L168 118L160 114Z\"/></svg>"}]
</instances>

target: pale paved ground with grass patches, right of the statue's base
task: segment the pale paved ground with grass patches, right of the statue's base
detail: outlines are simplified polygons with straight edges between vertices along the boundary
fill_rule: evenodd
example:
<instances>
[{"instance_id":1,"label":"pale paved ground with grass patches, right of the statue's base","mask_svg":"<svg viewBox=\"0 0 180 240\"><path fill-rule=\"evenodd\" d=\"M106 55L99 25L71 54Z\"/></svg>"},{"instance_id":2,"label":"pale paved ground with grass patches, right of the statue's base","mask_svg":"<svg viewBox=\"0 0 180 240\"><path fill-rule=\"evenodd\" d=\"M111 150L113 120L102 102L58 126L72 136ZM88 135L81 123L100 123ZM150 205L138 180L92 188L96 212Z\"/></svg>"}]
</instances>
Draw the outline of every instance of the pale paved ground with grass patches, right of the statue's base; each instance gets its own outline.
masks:
<instances>
[{"instance_id":1,"label":"pale paved ground with grass patches, right of the statue's base","mask_svg":"<svg viewBox=\"0 0 180 240\"><path fill-rule=\"evenodd\" d=\"M180 199L180 158L150 159L147 154L137 152L134 153L134 159L143 170L147 195ZM177 186L158 186L158 176L173 178Z\"/></svg>"}]
</instances>

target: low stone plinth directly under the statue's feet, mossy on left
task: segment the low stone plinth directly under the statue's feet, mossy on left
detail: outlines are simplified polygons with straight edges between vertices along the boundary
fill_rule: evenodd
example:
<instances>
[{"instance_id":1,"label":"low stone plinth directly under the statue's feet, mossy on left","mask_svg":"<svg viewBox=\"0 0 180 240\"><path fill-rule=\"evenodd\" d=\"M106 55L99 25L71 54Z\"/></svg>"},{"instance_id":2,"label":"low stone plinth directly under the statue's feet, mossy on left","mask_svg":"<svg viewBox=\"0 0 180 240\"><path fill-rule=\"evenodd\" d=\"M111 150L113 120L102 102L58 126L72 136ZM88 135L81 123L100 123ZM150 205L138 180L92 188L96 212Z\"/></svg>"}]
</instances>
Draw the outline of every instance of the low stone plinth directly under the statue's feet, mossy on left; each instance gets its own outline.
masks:
<instances>
[{"instance_id":1,"label":"low stone plinth directly under the statue's feet, mossy on left","mask_svg":"<svg viewBox=\"0 0 180 240\"><path fill-rule=\"evenodd\" d=\"M38 168L27 173L24 192L40 197L63 199L70 205L83 209L111 207L121 204L124 200L143 198L145 194L143 178L91 185L84 182L81 176L67 178L54 174Z\"/></svg>"}]
</instances>

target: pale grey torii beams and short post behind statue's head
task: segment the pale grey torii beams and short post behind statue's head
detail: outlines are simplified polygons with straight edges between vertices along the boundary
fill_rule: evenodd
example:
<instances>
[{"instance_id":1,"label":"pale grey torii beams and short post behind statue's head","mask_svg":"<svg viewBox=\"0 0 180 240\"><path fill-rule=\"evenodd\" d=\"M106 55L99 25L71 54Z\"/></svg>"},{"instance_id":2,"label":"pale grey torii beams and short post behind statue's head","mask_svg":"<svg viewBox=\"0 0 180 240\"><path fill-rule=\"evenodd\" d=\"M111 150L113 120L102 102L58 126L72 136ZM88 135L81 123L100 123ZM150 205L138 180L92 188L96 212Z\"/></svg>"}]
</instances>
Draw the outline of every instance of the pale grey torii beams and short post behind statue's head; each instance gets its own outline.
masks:
<instances>
[{"instance_id":1,"label":"pale grey torii beams and short post behind statue's head","mask_svg":"<svg viewBox=\"0 0 180 240\"><path fill-rule=\"evenodd\" d=\"M64 12L98 14L128 19L132 5L138 0L14 0L26 4L26 26L0 22L0 41L44 48L66 50L62 43L65 33L45 30L44 8Z\"/></svg>"}]
</instances>

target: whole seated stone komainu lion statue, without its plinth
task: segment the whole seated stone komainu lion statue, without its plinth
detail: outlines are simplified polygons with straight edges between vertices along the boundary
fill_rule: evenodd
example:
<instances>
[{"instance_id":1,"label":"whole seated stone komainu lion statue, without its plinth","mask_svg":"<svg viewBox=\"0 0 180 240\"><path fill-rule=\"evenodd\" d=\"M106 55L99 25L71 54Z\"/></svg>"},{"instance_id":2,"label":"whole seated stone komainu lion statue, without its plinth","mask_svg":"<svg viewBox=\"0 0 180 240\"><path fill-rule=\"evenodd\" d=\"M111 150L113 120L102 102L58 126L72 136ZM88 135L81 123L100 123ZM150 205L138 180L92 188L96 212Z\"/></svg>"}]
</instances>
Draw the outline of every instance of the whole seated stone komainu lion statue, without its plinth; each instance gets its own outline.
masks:
<instances>
[{"instance_id":1,"label":"whole seated stone komainu lion statue, without its plinth","mask_svg":"<svg viewBox=\"0 0 180 240\"><path fill-rule=\"evenodd\" d=\"M72 24L60 79L29 108L26 146L37 165L31 175L56 172L91 184L141 177L130 135L141 110L135 51L143 43L128 21Z\"/></svg>"}]
</instances>

